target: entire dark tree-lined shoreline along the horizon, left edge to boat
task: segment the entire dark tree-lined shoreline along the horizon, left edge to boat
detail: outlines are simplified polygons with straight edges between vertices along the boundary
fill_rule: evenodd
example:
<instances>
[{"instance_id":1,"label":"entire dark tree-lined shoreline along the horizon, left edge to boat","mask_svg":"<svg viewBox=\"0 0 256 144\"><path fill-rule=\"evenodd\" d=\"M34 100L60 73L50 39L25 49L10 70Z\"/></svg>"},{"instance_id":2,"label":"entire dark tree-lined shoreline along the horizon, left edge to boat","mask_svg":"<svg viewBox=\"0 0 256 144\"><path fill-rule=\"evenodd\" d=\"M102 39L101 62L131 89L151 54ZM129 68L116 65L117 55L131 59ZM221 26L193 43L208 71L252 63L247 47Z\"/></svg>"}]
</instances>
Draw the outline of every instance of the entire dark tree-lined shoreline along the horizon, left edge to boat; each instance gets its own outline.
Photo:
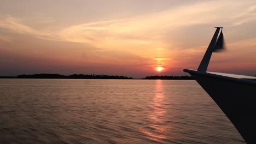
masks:
<instances>
[{"instance_id":1,"label":"entire dark tree-lined shoreline along the horizon, left edge to boat","mask_svg":"<svg viewBox=\"0 0 256 144\"><path fill-rule=\"evenodd\" d=\"M60 74L33 74L18 76L0 76L0 79L100 79L100 80L194 80L191 76L146 76L141 79L133 79L133 77L118 75L60 75Z\"/></svg>"}]
</instances>

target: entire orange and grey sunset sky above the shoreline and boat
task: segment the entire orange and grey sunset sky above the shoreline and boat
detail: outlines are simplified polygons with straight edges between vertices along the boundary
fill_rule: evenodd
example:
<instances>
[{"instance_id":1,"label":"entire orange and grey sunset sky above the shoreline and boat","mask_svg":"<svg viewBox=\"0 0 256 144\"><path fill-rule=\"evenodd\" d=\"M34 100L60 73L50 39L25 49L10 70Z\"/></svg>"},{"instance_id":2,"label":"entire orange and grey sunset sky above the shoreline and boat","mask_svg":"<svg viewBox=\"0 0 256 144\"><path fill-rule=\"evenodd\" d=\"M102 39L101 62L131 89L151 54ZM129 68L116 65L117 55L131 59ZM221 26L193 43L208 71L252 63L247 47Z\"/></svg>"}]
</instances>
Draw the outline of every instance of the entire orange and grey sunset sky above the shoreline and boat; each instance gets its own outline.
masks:
<instances>
[{"instance_id":1,"label":"entire orange and grey sunset sky above the shoreline and boat","mask_svg":"<svg viewBox=\"0 0 256 144\"><path fill-rule=\"evenodd\" d=\"M0 2L0 75L184 75L214 26L227 50L208 70L256 74L256 1Z\"/></svg>"}]
</instances>

